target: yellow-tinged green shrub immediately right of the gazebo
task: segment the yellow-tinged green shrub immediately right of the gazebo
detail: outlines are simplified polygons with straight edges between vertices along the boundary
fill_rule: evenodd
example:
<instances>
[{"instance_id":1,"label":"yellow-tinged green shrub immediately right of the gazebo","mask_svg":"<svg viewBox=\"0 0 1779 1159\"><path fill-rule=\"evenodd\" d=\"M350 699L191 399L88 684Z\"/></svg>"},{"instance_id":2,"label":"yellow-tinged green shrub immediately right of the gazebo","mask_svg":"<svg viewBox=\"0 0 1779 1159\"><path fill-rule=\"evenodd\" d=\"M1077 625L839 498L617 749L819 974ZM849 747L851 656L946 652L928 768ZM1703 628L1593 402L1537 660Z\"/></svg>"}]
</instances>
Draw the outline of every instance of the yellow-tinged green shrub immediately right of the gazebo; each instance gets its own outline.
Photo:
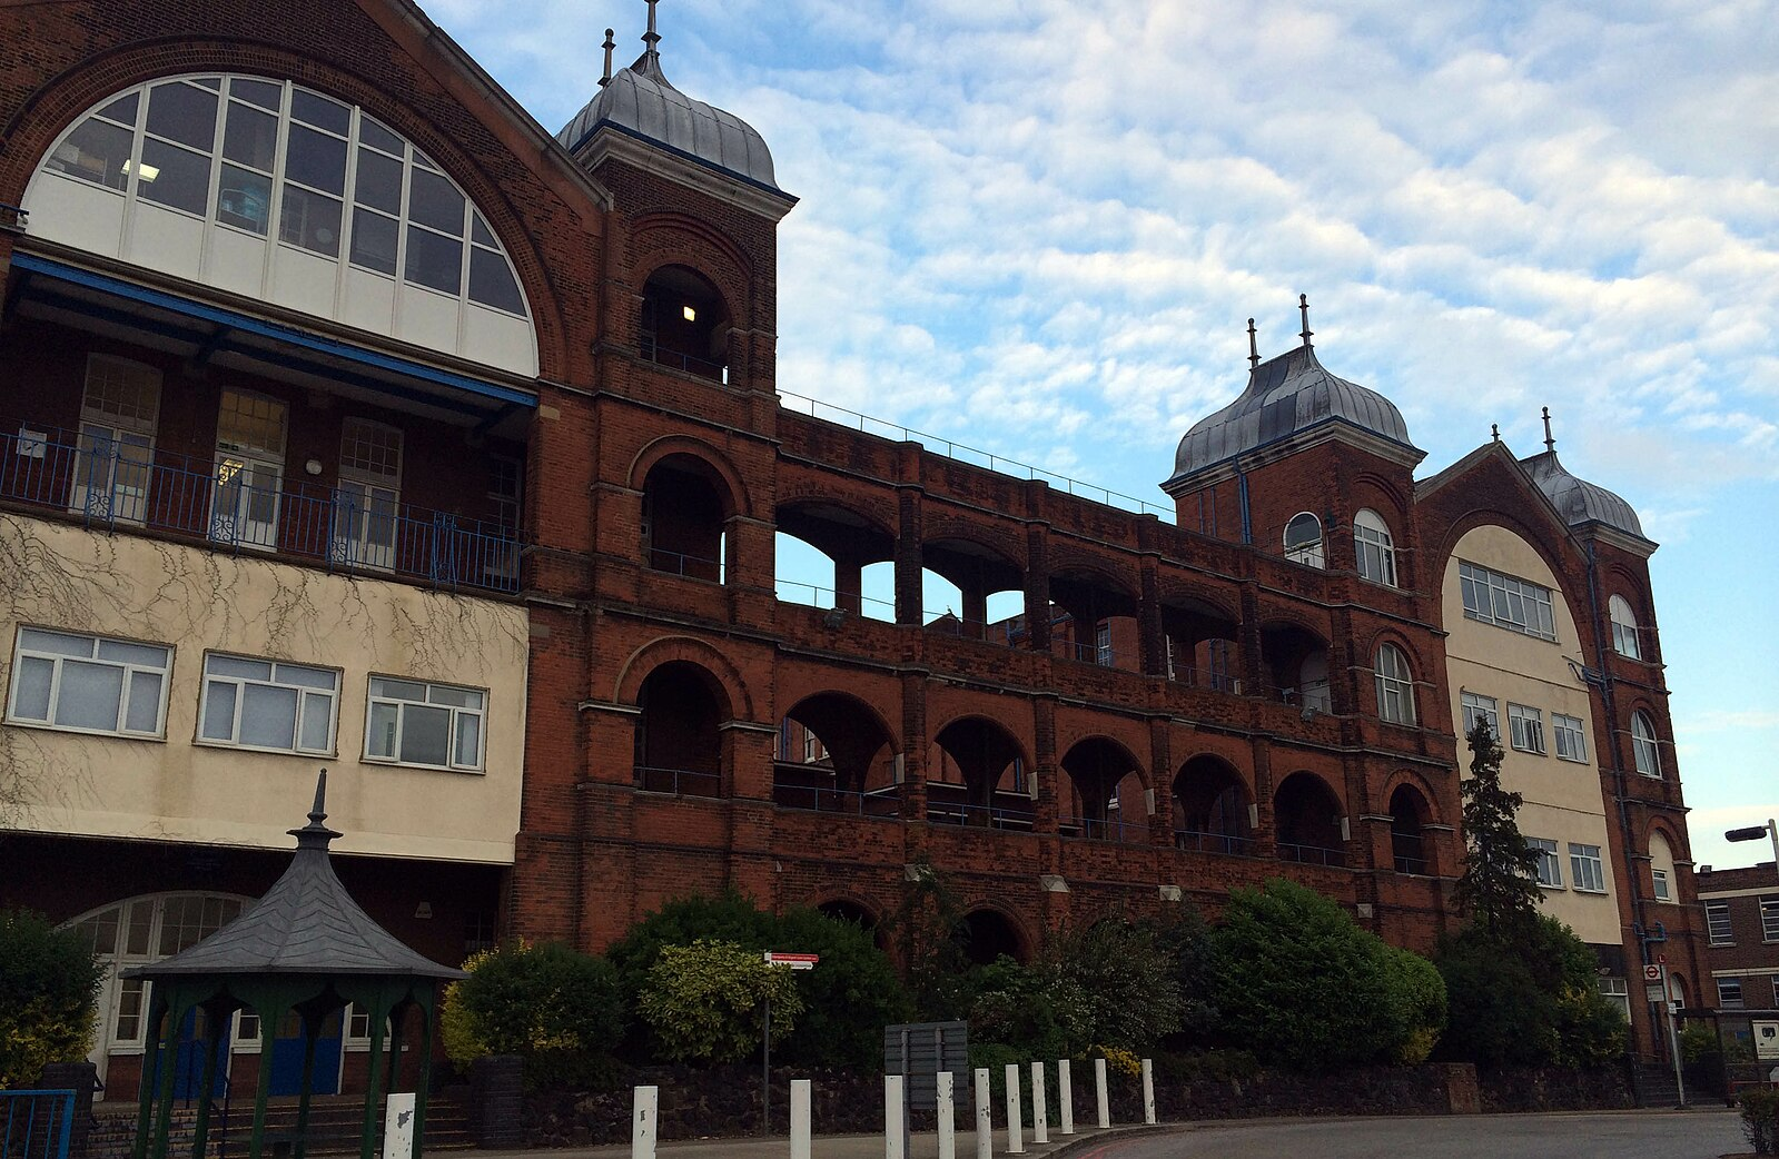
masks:
<instances>
[{"instance_id":1,"label":"yellow-tinged green shrub immediately right of the gazebo","mask_svg":"<svg viewBox=\"0 0 1779 1159\"><path fill-rule=\"evenodd\" d=\"M445 988L445 1054L468 1068L518 1054L534 1088L585 1086L610 1068L624 1029L617 971L566 946L518 942L471 956L470 978Z\"/></svg>"}]
</instances>

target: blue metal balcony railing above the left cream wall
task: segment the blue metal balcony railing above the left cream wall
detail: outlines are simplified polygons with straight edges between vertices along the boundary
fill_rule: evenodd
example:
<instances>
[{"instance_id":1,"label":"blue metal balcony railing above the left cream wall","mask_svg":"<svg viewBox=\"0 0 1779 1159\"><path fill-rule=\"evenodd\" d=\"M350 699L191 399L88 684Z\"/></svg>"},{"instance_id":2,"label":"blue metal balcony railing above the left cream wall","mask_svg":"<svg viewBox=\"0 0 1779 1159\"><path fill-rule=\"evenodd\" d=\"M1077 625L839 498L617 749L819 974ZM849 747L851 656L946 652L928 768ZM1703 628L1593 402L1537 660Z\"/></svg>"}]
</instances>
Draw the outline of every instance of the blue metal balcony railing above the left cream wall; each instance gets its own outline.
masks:
<instances>
[{"instance_id":1,"label":"blue metal balcony railing above the left cream wall","mask_svg":"<svg viewBox=\"0 0 1779 1159\"><path fill-rule=\"evenodd\" d=\"M521 544L502 528L400 503L368 484L292 485L279 475L279 466L251 457L194 464L153 452L146 439L28 427L0 434L0 500L107 530L142 528L235 551L302 556L329 571L441 588L519 588Z\"/></svg>"}]
</instances>

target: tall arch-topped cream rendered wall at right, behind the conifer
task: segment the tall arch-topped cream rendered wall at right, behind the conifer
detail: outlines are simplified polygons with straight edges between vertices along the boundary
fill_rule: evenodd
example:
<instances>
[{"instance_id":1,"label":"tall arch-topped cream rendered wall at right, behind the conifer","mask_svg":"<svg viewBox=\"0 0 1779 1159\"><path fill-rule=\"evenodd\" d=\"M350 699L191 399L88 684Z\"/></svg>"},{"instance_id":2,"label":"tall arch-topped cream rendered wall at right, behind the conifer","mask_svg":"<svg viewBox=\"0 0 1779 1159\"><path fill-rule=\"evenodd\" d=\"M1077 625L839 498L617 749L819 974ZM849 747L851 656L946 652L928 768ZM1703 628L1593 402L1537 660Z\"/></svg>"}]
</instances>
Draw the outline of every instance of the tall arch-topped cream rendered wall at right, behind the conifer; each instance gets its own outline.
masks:
<instances>
[{"instance_id":1,"label":"tall arch-topped cream rendered wall at right, behind the conifer","mask_svg":"<svg viewBox=\"0 0 1779 1159\"><path fill-rule=\"evenodd\" d=\"M1551 611L1557 640L1539 640L1494 624L1464 617L1464 595L1459 588L1459 562L1478 564L1507 576L1528 580L1551 588ZM1494 697L1501 720L1501 782L1525 796L1519 809L1519 832L1526 837L1546 837L1557 843L1562 860L1562 889L1546 889L1544 912L1567 923L1582 940L1617 946L1622 942L1617 907L1617 866L1606 841L1606 805L1601 793L1598 754L1594 752L1592 700L1564 663L1564 656L1578 656L1574 617L1564 601L1557 576L1526 540L1500 526L1480 526L1468 532L1446 562L1441 604L1446 638L1446 674L1452 688L1452 720L1462 729L1459 693L1475 691ZM1525 704L1544 711L1546 755L1517 752L1507 738L1507 704ZM1587 736L1587 761L1558 761L1551 715L1580 716ZM1468 768L1469 750L1459 750L1459 761ZM1605 866L1605 894L1574 891L1574 871L1569 866L1569 843L1596 844Z\"/></svg>"}]
</instances>

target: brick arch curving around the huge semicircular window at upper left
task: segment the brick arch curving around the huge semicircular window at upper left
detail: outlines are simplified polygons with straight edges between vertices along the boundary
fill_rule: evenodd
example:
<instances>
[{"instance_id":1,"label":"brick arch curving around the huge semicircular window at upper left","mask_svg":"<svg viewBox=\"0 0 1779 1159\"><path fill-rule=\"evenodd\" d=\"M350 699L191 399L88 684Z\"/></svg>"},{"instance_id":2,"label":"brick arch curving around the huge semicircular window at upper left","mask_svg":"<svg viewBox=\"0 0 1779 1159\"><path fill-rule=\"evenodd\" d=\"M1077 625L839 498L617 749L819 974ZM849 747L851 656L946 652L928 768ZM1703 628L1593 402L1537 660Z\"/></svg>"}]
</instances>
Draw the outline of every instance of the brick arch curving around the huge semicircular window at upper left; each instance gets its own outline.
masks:
<instances>
[{"instance_id":1,"label":"brick arch curving around the huge semicircular window at upper left","mask_svg":"<svg viewBox=\"0 0 1779 1159\"><path fill-rule=\"evenodd\" d=\"M0 140L9 146L5 155L0 155L0 201L20 204L25 185L36 172L37 162L50 151L55 137L76 117L101 105L107 96L164 76L206 71L294 80L318 92L361 105L415 142L470 196L512 260L530 309L539 377L568 377L562 302L550 277L551 261L539 256L532 242L539 229L523 220L503 192L514 183L486 176L480 162L473 160L459 144L463 133L434 124L416 112L418 103L411 103L400 94L390 94L363 76L334 68L317 55L292 53L262 41L167 37L137 41L89 57L27 98L12 119L0 126ZM448 96L445 100L457 105ZM468 108L463 112L466 117L477 119ZM594 204L585 208L598 212Z\"/></svg>"}]
</instances>

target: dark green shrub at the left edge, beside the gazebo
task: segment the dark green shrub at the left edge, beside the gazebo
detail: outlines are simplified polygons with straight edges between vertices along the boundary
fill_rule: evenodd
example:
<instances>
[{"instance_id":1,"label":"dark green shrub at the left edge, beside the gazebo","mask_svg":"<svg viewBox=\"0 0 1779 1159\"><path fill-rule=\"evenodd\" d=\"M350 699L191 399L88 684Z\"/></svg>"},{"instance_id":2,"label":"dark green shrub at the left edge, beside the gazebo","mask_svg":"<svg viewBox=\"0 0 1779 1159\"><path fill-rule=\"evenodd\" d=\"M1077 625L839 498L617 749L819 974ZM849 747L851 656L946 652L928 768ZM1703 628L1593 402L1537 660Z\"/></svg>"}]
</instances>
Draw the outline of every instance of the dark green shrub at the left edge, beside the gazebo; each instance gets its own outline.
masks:
<instances>
[{"instance_id":1,"label":"dark green shrub at the left edge, beside the gazebo","mask_svg":"<svg viewBox=\"0 0 1779 1159\"><path fill-rule=\"evenodd\" d=\"M78 933L28 910L0 910L0 1088L87 1056L101 979Z\"/></svg>"}]
</instances>

